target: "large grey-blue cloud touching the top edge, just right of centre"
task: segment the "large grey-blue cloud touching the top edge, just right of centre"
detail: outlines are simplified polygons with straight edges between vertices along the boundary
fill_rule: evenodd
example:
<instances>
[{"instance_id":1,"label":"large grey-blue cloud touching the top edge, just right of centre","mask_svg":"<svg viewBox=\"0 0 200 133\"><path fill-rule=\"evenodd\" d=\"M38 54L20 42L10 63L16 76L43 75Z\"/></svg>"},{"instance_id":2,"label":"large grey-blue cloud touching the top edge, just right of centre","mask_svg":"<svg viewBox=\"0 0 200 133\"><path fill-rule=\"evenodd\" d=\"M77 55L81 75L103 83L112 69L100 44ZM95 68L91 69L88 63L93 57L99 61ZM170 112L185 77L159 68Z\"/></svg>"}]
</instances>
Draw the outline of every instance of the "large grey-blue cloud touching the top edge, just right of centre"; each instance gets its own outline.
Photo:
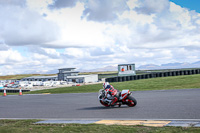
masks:
<instances>
[{"instance_id":1,"label":"large grey-blue cloud touching the top edge, just right of centre","mask_svg":"<svg viewBox=\"0 0 200 133\"><path fill-rule=\"evenodd\" d=\"M127 0L88 0L83 11L87 20L112 22L125 10L129 10ZM103 8L102 8L103 7Z\"/></svg>"}]
</instances>

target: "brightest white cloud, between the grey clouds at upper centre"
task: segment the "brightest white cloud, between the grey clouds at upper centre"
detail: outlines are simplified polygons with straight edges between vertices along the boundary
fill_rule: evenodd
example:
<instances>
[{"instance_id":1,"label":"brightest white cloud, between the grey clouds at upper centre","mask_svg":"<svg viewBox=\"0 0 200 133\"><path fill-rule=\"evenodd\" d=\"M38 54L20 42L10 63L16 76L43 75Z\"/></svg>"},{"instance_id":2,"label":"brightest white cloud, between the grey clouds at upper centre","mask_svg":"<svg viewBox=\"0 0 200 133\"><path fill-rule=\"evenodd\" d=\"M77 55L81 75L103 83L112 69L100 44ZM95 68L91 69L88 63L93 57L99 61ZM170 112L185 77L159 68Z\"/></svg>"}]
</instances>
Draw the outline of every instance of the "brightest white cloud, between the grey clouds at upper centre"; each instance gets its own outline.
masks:
<instances>
[{"instance_id":1,"label":"brightest white cloud, between the grey clouds at upper centre","mask_svg":"<svg viewBox=\"0 0 200 133\"><path fill-rule=\"evenodd\" d=\"M84 5L77 3L74 8L53 11L47 19L54 21L61 27L59 40L45 43L43 46L53 48L67 47L100 47L113 43L112 38L104 32L107 24L81 19Z\"/></svg>"}]
</instances>

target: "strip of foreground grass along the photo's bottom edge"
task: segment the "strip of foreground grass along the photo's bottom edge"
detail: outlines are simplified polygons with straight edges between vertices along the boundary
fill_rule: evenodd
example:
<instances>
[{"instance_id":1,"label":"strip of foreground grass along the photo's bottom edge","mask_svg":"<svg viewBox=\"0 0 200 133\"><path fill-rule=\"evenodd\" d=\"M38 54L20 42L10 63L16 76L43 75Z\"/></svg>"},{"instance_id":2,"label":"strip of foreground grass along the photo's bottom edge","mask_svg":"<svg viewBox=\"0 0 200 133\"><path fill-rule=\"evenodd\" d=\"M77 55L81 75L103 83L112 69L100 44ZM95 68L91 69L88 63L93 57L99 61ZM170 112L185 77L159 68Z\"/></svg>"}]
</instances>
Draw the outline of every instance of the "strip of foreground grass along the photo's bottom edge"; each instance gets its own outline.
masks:
<instances>
[{"instance_id":1,"label":"strip of foreground grass along the photo's bottom edge","mask_svg":"<svg viewBox=\"0 0 200 133\"><path fill-rule=\"evenodd\" d=\"M0 120L1 133L199 133L194 127L147 127L99 124L35 124L39 120Z\"/></svg>"}]
</instances>

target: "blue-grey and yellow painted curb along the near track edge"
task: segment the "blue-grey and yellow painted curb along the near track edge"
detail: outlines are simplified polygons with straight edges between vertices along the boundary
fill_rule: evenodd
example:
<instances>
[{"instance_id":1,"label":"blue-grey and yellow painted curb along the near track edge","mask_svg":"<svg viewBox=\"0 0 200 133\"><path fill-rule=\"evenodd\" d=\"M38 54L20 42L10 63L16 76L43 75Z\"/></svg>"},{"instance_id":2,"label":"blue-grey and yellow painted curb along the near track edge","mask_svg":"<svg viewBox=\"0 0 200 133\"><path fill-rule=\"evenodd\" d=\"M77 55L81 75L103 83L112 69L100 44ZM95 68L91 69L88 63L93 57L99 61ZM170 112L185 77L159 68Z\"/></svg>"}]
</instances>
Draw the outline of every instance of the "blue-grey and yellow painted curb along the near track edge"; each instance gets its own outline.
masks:
<instances>
[{"instance_id":1,"label":"blue-grey and yellow painted curb along the near track edge","mask_svg":"<svg viewBox=\"0 0 200 133\"><path fill-rule=\"evenodd\" d=\"M200 121L191 120L44 120L36 124L105 124L105 125L142 125L151 127L200 127Z\"/></svg>"}]
</instances>

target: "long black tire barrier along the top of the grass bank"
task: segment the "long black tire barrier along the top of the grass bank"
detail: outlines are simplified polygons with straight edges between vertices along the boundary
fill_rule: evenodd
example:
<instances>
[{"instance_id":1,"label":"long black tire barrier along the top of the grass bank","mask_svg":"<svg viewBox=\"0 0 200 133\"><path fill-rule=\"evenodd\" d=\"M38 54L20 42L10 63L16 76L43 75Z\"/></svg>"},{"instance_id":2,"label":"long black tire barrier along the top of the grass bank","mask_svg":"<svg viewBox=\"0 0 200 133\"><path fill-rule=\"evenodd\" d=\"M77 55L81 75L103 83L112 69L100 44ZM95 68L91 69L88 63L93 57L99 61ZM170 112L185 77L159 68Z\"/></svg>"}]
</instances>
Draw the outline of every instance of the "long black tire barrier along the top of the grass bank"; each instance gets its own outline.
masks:
<instances>
[{"instance_id":1,"label":"long black tire barrier along the top of the grass bank","mask_svg":"<svg viewBox=\"0 0 200 133\"><path fill-rule=\"evenodd\" d=\"M124 82L124 81L130 81L130 80L140 80L140 79L168 77L168 76L192 75L192 74L200 74L200 69L178 70L178 71L168 71L168 72L153 72L153 73L143 74L143 75L118 76L118 77L106 78L106 82Z\"/></svg>"}]
</instances>

